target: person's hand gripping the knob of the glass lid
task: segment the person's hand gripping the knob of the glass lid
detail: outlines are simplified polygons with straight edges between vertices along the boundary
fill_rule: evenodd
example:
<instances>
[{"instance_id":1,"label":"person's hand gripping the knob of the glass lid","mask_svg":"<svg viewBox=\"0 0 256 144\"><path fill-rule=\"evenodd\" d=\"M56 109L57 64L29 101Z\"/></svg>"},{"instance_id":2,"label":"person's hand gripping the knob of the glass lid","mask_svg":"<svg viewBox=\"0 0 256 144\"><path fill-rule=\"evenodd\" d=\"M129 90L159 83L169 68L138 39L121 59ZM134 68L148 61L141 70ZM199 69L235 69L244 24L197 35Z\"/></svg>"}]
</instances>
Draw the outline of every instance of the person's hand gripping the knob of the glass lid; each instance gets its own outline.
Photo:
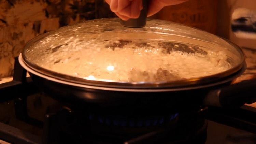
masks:
<instances>
[{"instance_id":1,"label":"person's hand gripping the knob of the glass lid","mask_svg":"<svg viewBox=\"0 0 256 144\"><path fill-rule=\"evenodd\" d=\"M176 5L188 0L149 0L147 16L159 12L163 7ZM113 11L122 20L138 18L142 10L142 0L106 0Z\"/></svg>"}]
</instances>

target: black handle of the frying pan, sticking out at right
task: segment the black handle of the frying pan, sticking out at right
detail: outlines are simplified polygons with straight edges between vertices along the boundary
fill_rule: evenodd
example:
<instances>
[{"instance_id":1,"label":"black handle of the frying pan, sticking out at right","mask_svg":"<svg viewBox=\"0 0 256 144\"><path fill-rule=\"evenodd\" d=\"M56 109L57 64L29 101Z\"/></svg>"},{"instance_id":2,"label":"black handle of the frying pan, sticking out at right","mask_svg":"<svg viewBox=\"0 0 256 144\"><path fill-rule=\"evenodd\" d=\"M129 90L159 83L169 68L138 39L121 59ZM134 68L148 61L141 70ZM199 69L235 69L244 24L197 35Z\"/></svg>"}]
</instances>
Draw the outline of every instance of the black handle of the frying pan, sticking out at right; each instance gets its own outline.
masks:
<instances>
[{"instance_id":1,"label":"black handle of the frying pan, sticking out at right","mask_svg":"<svg viewBox=\"0 0 256 144\"><path fill-rule=\"evenodd\" d=\"M203 104L235 108L256 102L256 79L245 80L221 89L210 91L205 97Z\"/></svg>"}]
</instances>

